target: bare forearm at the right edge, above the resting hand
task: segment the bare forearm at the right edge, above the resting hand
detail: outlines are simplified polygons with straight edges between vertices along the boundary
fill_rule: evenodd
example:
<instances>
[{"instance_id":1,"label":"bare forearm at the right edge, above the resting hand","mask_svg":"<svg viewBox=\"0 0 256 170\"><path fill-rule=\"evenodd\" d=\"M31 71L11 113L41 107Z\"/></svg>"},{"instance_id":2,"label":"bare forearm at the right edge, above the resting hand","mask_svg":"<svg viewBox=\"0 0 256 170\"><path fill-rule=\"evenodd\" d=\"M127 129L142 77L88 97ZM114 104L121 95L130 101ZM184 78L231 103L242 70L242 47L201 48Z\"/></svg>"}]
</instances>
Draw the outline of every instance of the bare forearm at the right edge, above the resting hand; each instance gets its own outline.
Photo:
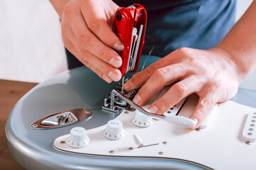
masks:
<instances>
[{"instance_id":1,"label":"bare forearm at the right edge, above the resting hand","mask_svg":"<svg viewBox=\"0 0 256 170\"><path fill-rule=\"evenodd\" d=\"M238 23L218 47L230 54L238 66L240 81L256 67L256 1L253 1Z\"/></svg>"}]
</instances>

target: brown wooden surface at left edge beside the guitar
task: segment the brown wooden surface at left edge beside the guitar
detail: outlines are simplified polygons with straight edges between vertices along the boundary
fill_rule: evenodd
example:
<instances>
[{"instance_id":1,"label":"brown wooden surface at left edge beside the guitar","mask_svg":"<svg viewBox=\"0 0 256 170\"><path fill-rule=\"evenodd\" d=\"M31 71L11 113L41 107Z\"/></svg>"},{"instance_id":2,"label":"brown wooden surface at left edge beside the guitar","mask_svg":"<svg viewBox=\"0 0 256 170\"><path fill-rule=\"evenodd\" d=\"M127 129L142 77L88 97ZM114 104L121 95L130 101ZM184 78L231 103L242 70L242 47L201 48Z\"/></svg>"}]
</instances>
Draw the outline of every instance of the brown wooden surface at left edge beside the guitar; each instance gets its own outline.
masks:
<instances>
[{"instance_id":1,"label":"brown wooden surface at left edge beside the guitar","mask_svg":"<svg viewBox=\"0 0 256 170\"><path fill-rule=\"evenodd\" d=\"M37 84L0 79L0 169L23 169L12 159L6 144L5 124L19 98Z\"/></svg>"}]
</instances>

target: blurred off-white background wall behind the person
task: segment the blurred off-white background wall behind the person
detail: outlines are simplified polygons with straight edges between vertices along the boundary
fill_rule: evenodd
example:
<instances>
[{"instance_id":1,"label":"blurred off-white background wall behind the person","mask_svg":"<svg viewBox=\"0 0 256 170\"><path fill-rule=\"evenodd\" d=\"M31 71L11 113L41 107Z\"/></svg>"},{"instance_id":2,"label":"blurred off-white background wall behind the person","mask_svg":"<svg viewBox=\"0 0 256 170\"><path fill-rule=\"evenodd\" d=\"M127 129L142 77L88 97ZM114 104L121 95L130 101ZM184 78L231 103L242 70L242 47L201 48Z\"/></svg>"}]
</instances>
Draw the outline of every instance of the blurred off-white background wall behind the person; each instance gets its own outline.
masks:
<instances>
[{"instance_id":1,"label":"blurred off-white background wall behind the person","mask_svg":"<svg viewBox=\"0 0 256 170\"><path fill-rule=\"evenodd\" d=\"M237 0L236 21L252 0ZM41 82L68 69L60 19L48 0L0 0L0 79ZM256 90L256 71L240 85Z\"/></svg>"}]
</instances>

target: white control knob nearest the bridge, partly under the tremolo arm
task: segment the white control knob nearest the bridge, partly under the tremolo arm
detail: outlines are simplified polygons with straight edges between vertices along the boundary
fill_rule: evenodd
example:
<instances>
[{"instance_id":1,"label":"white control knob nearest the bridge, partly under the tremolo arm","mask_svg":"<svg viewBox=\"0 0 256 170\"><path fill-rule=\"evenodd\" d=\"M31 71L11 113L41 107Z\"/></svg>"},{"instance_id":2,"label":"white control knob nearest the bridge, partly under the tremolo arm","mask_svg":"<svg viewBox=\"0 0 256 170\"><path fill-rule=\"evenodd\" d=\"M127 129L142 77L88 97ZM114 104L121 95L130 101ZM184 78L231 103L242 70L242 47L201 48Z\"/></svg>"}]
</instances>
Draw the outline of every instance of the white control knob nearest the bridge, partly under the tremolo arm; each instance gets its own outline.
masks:
<instances>
[{"instance_id":1,"label":"white control knob nearest the bridge, partly under the tremolo arm","mask_svg":"<svg viewBox=\"0 0 256 170\"><path fill-rule=\"evenodd\" d=\"M141 113L137 110L135 118L132 120L132 123L141 128L146 128L153 124L153 120L149 115L145 115L144 113Z\"/></svg>"}]
</instances>

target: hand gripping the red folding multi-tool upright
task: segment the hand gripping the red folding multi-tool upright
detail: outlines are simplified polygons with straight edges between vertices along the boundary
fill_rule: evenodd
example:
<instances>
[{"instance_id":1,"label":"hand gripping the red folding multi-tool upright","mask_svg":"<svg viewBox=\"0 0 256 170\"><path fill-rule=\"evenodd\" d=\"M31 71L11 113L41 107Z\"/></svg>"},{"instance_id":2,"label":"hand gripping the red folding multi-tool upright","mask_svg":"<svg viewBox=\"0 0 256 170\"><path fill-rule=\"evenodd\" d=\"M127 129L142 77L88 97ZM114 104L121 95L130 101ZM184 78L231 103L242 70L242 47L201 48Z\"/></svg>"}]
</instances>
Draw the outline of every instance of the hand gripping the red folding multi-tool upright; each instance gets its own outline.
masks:
<instances>
[{"instance_id":1,"label":"hand gripping the red folding multi-tool upright","mask_svg":"<svg viewBox=\"0 0 256 170\"><path fill-rule=\"evenodd\" d=\"M65 47L99 77L119 81L122 41L112 31L114 13L119 6L110 0L70 0L61 16Z\"/></svg>"}]
</instances>

